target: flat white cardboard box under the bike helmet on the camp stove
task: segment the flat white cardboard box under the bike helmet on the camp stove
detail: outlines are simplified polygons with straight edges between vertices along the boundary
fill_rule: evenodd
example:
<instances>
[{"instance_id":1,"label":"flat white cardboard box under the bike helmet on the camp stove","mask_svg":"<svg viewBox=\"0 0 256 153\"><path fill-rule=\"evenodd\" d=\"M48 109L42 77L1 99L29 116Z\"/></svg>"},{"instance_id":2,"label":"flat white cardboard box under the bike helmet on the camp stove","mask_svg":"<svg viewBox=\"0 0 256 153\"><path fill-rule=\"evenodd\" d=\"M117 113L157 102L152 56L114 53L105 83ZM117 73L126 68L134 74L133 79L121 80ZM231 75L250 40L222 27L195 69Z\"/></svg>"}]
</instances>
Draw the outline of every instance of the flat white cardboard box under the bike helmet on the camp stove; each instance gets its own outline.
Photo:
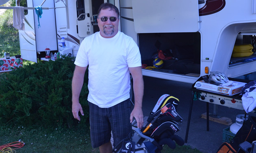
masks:
<instances>
[{"instance_id":1,"label":"flat white cardboard box under the bike helmet on the camp stove","mask_svg":"<svg viewBox=\"0 0 256 153\"><path fill-rule=\"evenodd\" d=\"M204 82L204 80L201 80L201 81L197 81L194 87L196 89L200 89L204 91L210 91L218 94L232 96L232 95L241 93L241 89L246 84L246 83L237 82L237 81L233 81L233 82L234 82L234 85L222 87L220 85L213 85L213 84Z\"/></svg>"}]
</instances>

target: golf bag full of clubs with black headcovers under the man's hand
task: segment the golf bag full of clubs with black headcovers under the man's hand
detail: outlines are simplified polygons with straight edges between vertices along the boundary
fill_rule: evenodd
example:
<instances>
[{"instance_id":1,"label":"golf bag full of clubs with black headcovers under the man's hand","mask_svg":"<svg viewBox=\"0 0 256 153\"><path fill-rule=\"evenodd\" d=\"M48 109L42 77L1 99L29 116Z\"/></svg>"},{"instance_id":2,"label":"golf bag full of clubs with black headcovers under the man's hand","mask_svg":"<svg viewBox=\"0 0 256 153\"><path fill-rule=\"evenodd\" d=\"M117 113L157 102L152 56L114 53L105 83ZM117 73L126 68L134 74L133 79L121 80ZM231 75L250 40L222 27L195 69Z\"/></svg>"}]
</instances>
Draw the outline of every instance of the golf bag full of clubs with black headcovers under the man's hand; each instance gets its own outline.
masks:
<instances>
[{"instance_id":1,"label":"golf bag full of clubs with black headcovers under the man's hand","mask_svg":"<svg viewBox=\"0 0 256 153\"><path fill-rule=\"evenodd\" d=\"M135 129L122 142L117 144L113 149L115 153L160 153L163 145L167 144L171 149L176 148L176 143L180 146L184 144L184 140L175 135L180 130L178 122L182 122L182 117L178 115L176 109L179 100L173 96L165 94L161 96L156 103L153 111L148 117L148 123L140 130ZM165 113L161 113L161 109L166 106L168 109ZM159 114L161 115L156 118ZM155 119L155 122L152 121ZM145 133L146 127L152 124ZM176 143L175 143L176 142Z\"/></svg>"}]
</instances>

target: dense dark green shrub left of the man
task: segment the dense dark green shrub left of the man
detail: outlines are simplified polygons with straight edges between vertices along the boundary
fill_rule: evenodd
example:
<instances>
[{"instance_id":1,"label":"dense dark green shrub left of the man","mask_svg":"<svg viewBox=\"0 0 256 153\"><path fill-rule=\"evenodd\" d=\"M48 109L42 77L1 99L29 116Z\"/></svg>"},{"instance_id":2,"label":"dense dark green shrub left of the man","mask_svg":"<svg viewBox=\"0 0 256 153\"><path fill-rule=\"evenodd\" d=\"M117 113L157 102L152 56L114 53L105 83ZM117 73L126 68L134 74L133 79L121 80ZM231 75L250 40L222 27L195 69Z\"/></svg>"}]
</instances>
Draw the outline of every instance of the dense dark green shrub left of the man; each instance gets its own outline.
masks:
<instances>
[{"instance_id":1,"label":"dense dark green shrub left of the man","mask_svg":"<svg viewBox=\"0 0 256 153\"><path fill-rule=\"evenodd\" d=\"M72 115L74 57L49 62L27 63L23 68L0 74L0 124L67 127L78 124ZM80 103L89 121L88 72Z\"/></svg>"}]
</instances>

